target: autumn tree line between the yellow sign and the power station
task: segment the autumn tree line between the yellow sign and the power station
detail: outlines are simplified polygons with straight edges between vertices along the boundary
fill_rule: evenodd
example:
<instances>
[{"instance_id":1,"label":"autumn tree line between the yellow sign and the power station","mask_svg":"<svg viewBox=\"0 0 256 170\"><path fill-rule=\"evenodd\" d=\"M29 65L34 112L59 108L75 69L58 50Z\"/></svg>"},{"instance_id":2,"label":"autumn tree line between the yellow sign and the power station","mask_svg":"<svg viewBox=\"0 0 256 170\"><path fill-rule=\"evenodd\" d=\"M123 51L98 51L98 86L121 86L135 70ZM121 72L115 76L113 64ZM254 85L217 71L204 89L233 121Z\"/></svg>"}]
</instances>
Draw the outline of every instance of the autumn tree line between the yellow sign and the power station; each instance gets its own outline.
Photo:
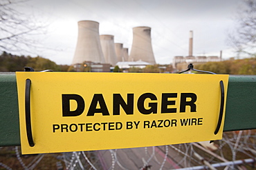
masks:
<instances>
[{"instance_id":1,"label":"autumn tree line between the yellow sign and the power station","mask_svg":"<svg viewBox=\"0 0 256 170\"><path fill-rule=\"evenodd\" d=\"M161 70L161 65L147 65L145 68L131 67L128 72L172 72L172 65L165 65L165 70ZM163 65L162 65L163 66ZM0 72L23 72L24 67L33 67L37 72L42 70L53 70L55 72L67 72L70 65L57 65L55 62L45 59L42 56L17 56L7 52L0 55ZM217 74L244 74L256 75L256 58L233 59L221 62L208 62L194 65L197 70L205 70ZM122 72L118 66L113 72Z\"/></svg>"}]
</instances>

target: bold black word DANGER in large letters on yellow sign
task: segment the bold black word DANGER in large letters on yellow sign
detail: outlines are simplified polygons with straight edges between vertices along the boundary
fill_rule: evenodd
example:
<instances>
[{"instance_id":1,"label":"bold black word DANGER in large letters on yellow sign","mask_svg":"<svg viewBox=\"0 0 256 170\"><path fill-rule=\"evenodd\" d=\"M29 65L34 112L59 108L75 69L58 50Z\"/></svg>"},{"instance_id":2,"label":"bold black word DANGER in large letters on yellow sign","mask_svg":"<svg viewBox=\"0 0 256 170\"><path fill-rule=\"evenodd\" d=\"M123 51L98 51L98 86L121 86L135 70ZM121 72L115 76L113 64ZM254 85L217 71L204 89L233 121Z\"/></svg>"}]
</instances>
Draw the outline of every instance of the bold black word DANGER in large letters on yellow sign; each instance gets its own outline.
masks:
<instances>
[{"instance_id":1,"label":"bold black word DANGER in large letters on yellow sign","mask_svg":"<svg viewBox=\"0 0 256 170\"><path fill-rule=\"evenodd\" d=\"M181 93L179 111L176 107L177 93L163 93L161 96L161 114L183 113L186 109L196 112L197 96L194 93ZM172 99L173 98L173 99ZM77 108L71 111L71 100L75 100ZM149 102L148 102L149 100ZM120 107L126 115L134 114L134 94L127 94L127 100L121 94L113 94L113 115L120 115ZM140 114L157 114L158 102L155 94L141 94L137 101L137 108ZM78 94L62 94L62 116L80 116L85 109L84 98ZM187 111L188 112L188 111ZM102 94L94 94L86 116L95 116L96 113L102 116L110 116L107 104ZM193 124L195 124L193 120ZM147 126L147 124L146 124ZM155 127L156 125L152 125ZM111 128L112 129L112 128Z\"/></svg>"}]
</instances>

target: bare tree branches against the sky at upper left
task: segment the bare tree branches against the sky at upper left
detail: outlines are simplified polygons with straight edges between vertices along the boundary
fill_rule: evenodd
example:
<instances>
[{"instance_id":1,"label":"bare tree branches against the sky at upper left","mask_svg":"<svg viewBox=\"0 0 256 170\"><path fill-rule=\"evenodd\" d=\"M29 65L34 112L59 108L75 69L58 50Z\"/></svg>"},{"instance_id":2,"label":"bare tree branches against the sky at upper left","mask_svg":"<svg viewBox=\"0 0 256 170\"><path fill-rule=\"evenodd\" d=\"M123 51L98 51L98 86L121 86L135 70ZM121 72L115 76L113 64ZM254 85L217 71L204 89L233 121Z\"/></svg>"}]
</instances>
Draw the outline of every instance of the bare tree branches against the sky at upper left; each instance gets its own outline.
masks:
<instances>
[{"instance_id":1,"label":"bare tree branches against the sky at upper left","mask_svg":"<svg viewBox=\"0 0 256 170\"><path fill-rule=\"evenodd\" d=\"M0 51L28 52L37 47L31 37L42 34L46 26L14 8L27 1L30 0L0 1Z\"/></svg>"}]
</instances>

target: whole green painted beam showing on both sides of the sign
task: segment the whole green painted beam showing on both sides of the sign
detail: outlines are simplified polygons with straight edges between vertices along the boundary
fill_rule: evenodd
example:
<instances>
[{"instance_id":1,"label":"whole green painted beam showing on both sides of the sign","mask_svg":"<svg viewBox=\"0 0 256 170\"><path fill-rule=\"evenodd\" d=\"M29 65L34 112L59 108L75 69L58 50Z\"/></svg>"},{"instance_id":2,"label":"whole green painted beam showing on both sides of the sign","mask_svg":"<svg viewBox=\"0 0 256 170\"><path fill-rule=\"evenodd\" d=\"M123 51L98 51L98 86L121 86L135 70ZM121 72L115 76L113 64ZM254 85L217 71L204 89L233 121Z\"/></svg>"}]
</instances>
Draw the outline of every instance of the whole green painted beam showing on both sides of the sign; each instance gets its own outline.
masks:
<instances>
[{"instance_id":1,"label":"whole green painted beam showing on both sides of the sign","mask_svg":"<svg viewBox=\"0 0 256 170\"><path fill-rule=\"evenodd\" d=\"M16 76L0 74L0 146L18 146L19 107ZM256 129L256 76L232 76L228 81L228 96L224 131Z\"/></svg>"}]
</instances>

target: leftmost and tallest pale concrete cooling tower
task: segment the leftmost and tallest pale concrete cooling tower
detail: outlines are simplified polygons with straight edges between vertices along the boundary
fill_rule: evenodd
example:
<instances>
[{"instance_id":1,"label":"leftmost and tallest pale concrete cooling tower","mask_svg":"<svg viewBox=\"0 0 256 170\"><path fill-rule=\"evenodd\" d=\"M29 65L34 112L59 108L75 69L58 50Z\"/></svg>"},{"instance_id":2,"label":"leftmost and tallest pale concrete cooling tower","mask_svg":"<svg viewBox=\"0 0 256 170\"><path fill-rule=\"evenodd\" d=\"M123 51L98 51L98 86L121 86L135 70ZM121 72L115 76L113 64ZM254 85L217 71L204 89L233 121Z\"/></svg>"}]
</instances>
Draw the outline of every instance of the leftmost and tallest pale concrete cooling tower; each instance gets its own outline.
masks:
<instances>
[{"instance_id":1,"label":"leftmost and tallest pale concrete cooling tower","mask_svg":"<svg viewBox=\"0 0 256 170\"><path fill-rule=\"evenodd\" d=\"M78 38L72 64L84 61L105 63L100 45L99 23L95 21L78 22Z\"/></svg>"}]
</instances>

